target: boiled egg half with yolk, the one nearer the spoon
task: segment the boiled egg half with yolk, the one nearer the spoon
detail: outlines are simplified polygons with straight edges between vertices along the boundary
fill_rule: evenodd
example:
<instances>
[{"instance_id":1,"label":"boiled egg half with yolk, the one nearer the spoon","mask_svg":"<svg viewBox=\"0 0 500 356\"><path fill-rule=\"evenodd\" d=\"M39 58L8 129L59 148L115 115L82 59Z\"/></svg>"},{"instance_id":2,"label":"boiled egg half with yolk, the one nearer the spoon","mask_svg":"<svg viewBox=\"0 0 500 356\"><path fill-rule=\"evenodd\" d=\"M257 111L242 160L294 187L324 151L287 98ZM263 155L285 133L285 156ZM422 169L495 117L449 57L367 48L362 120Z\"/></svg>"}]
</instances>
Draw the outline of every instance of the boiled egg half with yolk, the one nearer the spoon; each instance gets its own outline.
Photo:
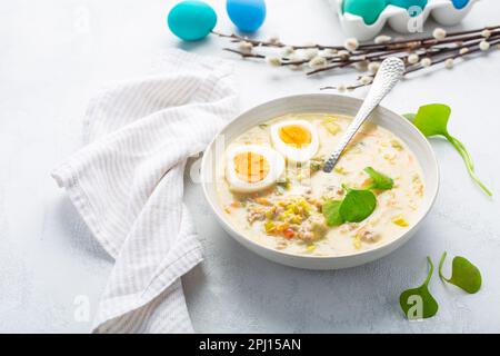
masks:
<instances>
[{"instance_id":1,"label":"boiled egg half with yolk, the one nearer the spoon","mask_svg":"<svg viewBox=\"0 0 500 356\"><path fill-rule=\"evenodd\" d=\"M287 120L271 126L272 146L289 161L304 162L319 149L316 127L306 120Z\"/></svg>"}]
</instances>

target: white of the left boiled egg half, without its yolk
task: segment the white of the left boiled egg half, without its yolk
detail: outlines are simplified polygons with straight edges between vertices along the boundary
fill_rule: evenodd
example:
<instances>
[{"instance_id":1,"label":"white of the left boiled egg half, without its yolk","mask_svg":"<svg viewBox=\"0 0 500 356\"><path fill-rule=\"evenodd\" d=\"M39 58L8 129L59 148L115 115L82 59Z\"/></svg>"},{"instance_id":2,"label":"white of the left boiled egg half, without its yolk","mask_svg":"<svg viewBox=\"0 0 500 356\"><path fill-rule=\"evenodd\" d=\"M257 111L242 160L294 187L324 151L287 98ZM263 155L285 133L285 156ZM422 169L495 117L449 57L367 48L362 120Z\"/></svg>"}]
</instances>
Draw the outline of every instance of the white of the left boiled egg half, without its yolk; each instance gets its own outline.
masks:
<instances>
[{"instance_id":1,"label":"white of the left boiled egg half, without its yolk","mask_svg":"<svg viewBox=\"0 0 500 356\"><path fill-rule=\"evenodd\" d=\"M261 155L269 162L269 172L260 181L248 182L238 177L234 157L243 152ZM274 149L259 145L241 145L229 149L226 154L226 180L229 188L237 192L254 192L271 187L284 171L284 159Z\"/></svg>"}]
</instances>

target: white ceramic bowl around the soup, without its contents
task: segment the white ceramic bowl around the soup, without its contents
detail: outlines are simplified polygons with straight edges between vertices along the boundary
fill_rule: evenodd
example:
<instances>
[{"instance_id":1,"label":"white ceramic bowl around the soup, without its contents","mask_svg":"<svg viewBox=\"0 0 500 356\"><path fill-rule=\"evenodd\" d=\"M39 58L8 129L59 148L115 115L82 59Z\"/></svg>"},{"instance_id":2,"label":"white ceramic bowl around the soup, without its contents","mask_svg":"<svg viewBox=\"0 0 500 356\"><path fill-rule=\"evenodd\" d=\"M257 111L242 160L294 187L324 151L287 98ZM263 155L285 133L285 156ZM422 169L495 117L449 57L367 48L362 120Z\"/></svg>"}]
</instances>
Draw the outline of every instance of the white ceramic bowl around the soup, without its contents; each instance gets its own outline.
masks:
<instances>
[{"instance_id":1,"label":"white ceramic bowl around the soup, without its contents","mask_svg":"<svg viewBox=\"0 0 500 356\"><path fill-rule=\"evenodd\" d=\"M247 112L243 112L229 122L219 132L218 137L220 139L220 137L223 136L223 140L227 145L249 128L271 118L290 112L329 112L353 117L358 112L361 102L362 101L360 99L328 93L284 97L262 103L248 110ZM411 236L413 236L434 202L439 186L438 164L433 150L427 139L412 123L400 115L383 107L379 107L372 113L370 120L373 123L387 128L401 138L410 147L421 165L426 182L426 194L420 207L420 217L417 224L408 231L371 250L332 257L292 255L259 245L238 233L231 226L231 224L226 219L222 208L218 202L214 182L216 161L222 158L216 157L216 155L220 156L223 155L223 152L217 152L218 150L216 149L216 142L218 140L216 138L204 151L203 160L201 162L201 181L204 196L219 222L226 231L228 231L237 241L248 249L276 263L298 268L339 269L353 267L381 258L399 248L408 241Z\"/></svg>"}]
</instances>

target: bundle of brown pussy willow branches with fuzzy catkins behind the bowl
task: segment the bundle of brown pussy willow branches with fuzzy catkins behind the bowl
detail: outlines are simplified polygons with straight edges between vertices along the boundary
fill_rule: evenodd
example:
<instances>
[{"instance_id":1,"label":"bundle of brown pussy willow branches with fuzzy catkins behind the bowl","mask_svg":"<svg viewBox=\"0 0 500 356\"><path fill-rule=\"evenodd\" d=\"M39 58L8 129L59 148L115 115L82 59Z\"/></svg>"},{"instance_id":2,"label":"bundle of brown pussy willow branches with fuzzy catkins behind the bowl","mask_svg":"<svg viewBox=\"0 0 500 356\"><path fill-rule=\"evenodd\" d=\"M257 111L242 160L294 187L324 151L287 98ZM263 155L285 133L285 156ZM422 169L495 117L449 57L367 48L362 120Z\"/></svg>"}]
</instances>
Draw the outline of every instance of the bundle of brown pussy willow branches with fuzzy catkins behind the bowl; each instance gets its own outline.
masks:
<instances>
[{"instance_id":1,"label":"bundle of brown pussy willow branches with fuzzy catkins behind the bowl","mask_svg":"<svg viewBox=\"0 0 500 356\"><path fill-rule=\"evenodd\" d=\"M442 30L441 30L442 31ZM263 55L262 51L272 51L287 49L289 52L297 53L298 51L318 50L327 53L321 53L319 59L320 66L313 63L311 58L298 58L294 55L279 55L274 56L273 66L296 67L300 68L303 65L310 65L312 70L307 71L308 76L320 72L327 72L334 69L342 69L346 67L362 68L361 65L370 62L380 62L383 59L396 56L404 60L407 66L406 73L414 72L428 67L432 67L448 60L456 60L461 57L467 57L472 53L486 51L489 47L499 46L500 43L500 26L486 27L482 29L467 30L459 32L451 32L444 36L427 36L414 39L404 40L383 40L371 43L361 43L349 48L349 46L326 46L326 44L288 44L281 42L278 38L269 40L257 40L238 34L226 34L212 31L213 34L228 38L230 42L240 44L240 49L224 48L223 50L239 55L241 58L253 58L257 60L267 60L269 56ZM482 43L488 42L488 43ZM241 44L246 47L242 48ZM488 46L489 44L489 46ZM488 48L484 48L487 46ZM418 56L418 57L416 57ZM417 61L416 61L417 58ZM410 60L412 59L412 60ZM426 59L426 61L420 61ZM317 61L318 62L318 61ZM447 67L452 66L449 61ZM358 68L358 69L359 69ZM373 70L372 70L373 71ZM360 78L364 78L363 82L346 87L346 89L357 89L369 86L370 78L373 73L367 73ZM359 79L360 79L359 78ZM368 78L368 80L367 80ZM334 89L339 87L324 87L322 89Z\"/></svg>"}]
</instances>

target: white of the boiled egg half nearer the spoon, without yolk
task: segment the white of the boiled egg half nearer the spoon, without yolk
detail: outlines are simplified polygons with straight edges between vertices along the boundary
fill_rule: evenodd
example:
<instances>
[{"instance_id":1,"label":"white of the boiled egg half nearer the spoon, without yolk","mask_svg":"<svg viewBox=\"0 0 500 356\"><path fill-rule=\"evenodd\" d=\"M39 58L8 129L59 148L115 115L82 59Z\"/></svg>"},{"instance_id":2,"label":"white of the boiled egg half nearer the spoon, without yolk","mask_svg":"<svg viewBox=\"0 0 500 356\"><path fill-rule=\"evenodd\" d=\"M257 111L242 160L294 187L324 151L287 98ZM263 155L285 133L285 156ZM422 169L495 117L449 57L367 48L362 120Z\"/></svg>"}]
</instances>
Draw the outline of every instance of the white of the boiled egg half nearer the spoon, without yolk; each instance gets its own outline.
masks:
<instances>
[{"instance_id":1,"label":"white of the boiled egg half nearer the spoon, without yolk","mask_svg":"<svg viewBox=\"0 0 500 356\"><path fill-rule=\"evenodd\" d=\"M297 125L303 127L311 134L311 142L301 148L292 147L280 138L280 129L283 126ZM319 135L316 127L306 120L286 120L271 126L272 146L291 162L304 162L314 157L319 149Z\"/></svg>"}]
</instances>

